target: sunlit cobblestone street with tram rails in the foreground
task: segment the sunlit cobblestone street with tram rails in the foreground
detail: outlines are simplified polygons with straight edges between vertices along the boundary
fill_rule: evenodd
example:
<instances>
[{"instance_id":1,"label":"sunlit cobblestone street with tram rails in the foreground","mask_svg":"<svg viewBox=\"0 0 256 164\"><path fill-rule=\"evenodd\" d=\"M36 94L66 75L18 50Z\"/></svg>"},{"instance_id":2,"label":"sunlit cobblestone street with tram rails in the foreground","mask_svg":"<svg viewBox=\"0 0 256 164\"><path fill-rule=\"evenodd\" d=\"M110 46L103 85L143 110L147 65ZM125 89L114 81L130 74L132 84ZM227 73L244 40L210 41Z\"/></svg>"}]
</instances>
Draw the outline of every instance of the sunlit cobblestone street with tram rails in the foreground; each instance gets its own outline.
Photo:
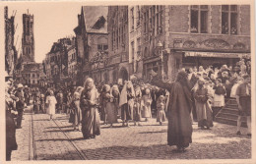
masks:
<instances>
[{"instance_id":1,"label":"sunlit cobblestone street with tram rails in the foreground","mask_svg":"<svg viewBox=\"0 0 256 164\"><path fill-rule=\"evenodd\" d=\"M235 135L236 127L215 123L213 130L199 130L193 125L193 143L185 153L174 153L166 145L167 126L159 126L156 119L141 127L114 128L101 126L101 135L83 139L81 132L74 132L68 117L57 114L49 121L45 114L26 115L22 130L17 131L19 149L13 160L29 160L28 134L30 118L33 123L36 160L81 159L246 159L251 158L251 138ZM27 143L26 143L27 142ZM32 154L32 153L31 153Z\"/></svg>"}]
</instances>

